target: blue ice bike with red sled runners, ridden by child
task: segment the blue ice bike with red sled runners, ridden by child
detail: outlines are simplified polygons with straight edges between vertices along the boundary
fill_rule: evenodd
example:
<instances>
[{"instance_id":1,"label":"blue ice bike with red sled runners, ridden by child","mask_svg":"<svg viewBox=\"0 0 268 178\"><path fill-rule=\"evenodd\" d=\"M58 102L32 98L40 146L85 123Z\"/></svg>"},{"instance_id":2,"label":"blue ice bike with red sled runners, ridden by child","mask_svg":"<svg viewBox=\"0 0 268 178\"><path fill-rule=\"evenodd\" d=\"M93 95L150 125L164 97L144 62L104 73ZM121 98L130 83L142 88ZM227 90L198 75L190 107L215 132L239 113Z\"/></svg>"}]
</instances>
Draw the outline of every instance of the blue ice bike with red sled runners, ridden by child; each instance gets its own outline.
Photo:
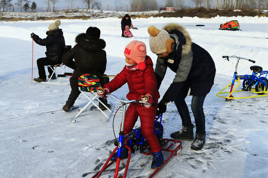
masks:
<instances>
[{"instance_id":1,"label":"blue ice bike with red sled runners, ridden by child","mask_svg":"<svg viewBox=\"0 0 268 178\"><path fill-rule=\"evenodd\" d=\"M97 172L94 176L92 176L92 178L100 177L102 172L114 163L114 162L110 162L110 160L116 151L117 151L117 160L116 160L116 168L115 168L114 178L125 178L127 175L127 172L128 172L128 166L129 166L131 154L135 154L137 150L140 150L140 153L142 153L142 154L146 154L146 155L152 154L150 151L150 146L148 145L147 141L142 136L141 127L138 127L136 129L132 130L131 132L129 132L128 134L124 135L124 122L125 122L126 105L129 103L133 103L133 102L138 102L141 104L143 104L143 103L148 104L148 103L140 101L140 100L118 99L118 98L116 98L116 96L111 95L111 94L106 94L106 96L112 97L115 100L117 100L118 102L121 102L121 104L123 106L122 122L121 122L118 142L117 141L115 142L115 145L117 147L113 150L113 152L111 153L111 155L109 156L109 158L107 159L105 164L103 165L102 169L99 172ZM118 108L118 109L120 109L120 108ZM155 117L154 132L159 140L160 146L162 147L162 151L170 152L170 156L163 162L163 165L160 168L155 169L155 171L151 174L151 176L149 176L149 178L152 178L166 164L166 162L172 156L176 156L182 149L182 142L181 141L162 138L163 137L163 126L162 126L161 122L162 122L162 114ZM123 147L128 149L129 154L128 154L128 158L127 158L127 162L126 162L126 168L125 168L124 175L118 176L120 160L121 160L121 151L122 151ZM147 152L145 152L146 149L147 149Z\"/></svg>"}]
</instances>

